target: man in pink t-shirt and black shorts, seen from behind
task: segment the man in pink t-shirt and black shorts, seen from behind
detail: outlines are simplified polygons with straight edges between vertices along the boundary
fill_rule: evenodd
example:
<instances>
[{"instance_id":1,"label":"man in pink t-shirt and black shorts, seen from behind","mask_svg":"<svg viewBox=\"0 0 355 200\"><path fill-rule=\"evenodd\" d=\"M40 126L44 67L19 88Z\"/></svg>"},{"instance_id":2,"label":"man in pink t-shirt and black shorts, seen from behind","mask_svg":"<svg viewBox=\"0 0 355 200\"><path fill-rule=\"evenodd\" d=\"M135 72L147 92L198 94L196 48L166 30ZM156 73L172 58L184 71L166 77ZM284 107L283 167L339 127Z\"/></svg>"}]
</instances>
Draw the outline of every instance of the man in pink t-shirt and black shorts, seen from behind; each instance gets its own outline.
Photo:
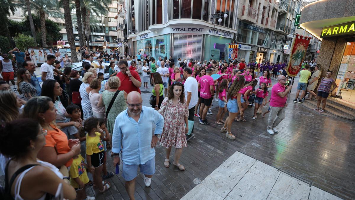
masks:
<instances>
[{"instance_id":1,"label":"man in pink t-shirt and black shorts, seen from behind","mask_svg":"<svg viewBox=\"0 0 355 200\"><path fill-rule=\"evenodd\" d=\"M206 115L209 107L212 104L214 96L214 81L211 77L212 69L206 69L206 75L201 77L198 81L198 88L200 88L201 107L200 107L200 120L201 124L208 125Z\"/></svg>"}]
</instances>

